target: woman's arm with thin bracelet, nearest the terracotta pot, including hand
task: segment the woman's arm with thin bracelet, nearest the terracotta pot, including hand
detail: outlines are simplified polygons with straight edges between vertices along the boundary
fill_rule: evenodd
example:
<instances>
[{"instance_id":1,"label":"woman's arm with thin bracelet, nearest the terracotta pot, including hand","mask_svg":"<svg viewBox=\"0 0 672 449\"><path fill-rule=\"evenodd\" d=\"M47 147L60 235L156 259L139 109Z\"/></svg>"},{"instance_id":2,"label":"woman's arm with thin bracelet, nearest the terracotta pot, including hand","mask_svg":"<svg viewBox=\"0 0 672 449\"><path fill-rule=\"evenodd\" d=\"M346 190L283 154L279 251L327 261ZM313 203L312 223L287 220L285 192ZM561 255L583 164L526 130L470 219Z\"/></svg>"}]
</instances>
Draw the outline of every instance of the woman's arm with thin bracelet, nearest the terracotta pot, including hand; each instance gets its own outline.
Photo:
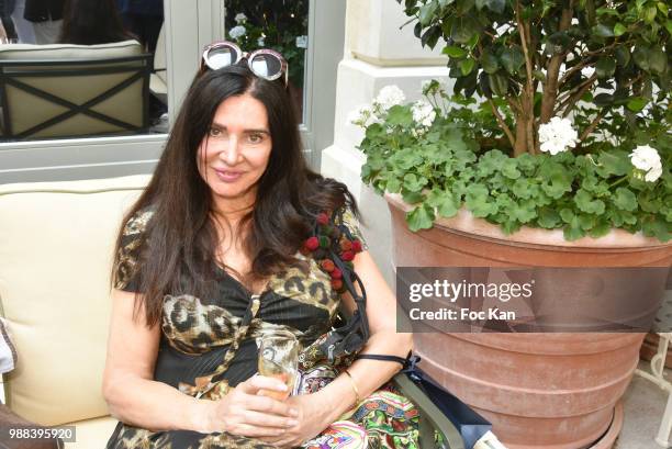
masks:
<instances>
[{"instance_id":1,"label":"woman's arm with thin bracelet, nearest the terracotta pot, including hand","mask_svg":"<svg viewBox=\"0 0 672 449\"><path fill-rule=\"evenodd\" d=\"M412 334L396 333L396 300L368 251L359 252L354 260L355 271L367 291L367 317L370 337L362 353L391 355L405 358L413 347ZM351 298L344 298L350 311ZM280 447L293 447L315 437L329 424L355 405L352 382L362 400L390 380L401 366L397 362L360 359L348 371L352 380L343 373L321 391L292 396L290 404L299 408L299 425L288 429L280 438L265 438Z\"/></svg>"}]
</instances>

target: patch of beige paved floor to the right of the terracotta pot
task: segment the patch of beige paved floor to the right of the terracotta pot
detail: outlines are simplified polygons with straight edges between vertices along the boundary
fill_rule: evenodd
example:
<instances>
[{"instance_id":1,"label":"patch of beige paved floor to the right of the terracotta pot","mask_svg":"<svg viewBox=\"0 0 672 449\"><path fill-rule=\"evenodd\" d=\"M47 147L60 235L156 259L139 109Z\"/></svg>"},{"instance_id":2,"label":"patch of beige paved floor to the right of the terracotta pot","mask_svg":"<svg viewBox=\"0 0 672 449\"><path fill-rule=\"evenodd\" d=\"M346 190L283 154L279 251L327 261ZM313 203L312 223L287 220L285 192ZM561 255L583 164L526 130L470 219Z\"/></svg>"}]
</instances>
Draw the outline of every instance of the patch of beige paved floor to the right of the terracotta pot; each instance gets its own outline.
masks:
<instances>
[{"instance_id":1,"label":"patch of beige paved floor to the right of the terracotta pot","mask_svg":"<svg viewBox=\"0 0 672 449\"><path fill-rule=\"evenodd\" d=\"M648 362L639 363L646 370ZM672 371L665 370L672 380ZM635 375L625 395L625 420L614 449L661 449L656 444L667 393L652 382Z\"/></svg>"}]
</instances>

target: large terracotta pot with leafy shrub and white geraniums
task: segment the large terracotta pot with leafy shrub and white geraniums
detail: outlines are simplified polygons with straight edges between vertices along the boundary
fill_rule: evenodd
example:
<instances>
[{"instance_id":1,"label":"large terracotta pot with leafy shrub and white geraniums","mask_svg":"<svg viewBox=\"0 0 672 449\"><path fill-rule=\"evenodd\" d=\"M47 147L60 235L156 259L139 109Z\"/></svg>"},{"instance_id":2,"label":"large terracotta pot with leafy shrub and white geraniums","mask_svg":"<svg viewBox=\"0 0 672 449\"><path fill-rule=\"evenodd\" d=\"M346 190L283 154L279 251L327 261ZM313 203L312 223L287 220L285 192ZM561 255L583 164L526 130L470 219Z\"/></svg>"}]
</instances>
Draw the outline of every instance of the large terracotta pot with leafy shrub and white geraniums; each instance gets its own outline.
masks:
<instances>
[{"instance_id":1,"label":"large terracotta pot with leafy shrub and white geraniums","mask_svg":"<svg viewBox=\"0 0 672 449\"><path fill-rule=\"evenodd\" d=\"M366 128L362 179L390 204L395 265L669 267L667 3L404 7L424 45L445 45L455 86L428 81L413 104L390 86L350 117ZM618 434L641 339L428 333L416 347L509 447L580 448Z\"/></svg>"}]
</instances>

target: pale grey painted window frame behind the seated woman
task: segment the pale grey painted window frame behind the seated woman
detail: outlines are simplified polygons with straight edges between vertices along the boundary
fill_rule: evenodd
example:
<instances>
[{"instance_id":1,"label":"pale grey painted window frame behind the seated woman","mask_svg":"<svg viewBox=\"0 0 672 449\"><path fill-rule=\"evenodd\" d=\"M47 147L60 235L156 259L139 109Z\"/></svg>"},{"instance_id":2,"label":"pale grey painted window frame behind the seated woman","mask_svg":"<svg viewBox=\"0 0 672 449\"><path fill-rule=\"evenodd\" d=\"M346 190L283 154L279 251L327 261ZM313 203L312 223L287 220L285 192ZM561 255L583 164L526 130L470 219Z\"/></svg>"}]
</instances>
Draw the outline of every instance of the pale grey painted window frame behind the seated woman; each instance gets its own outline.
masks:
<instances>
[{"instance_id":1,"label":"pale grey painted window frame behind the seated woman","mask_svg":"<svg viewBox=\"0 0 672 449\"><path fill-rule=\"evenodd\" d=\"M345 2L305 0L305 4L306 15L302 20L306 21L307 38L298 34L299 42L294 40L300 48L296 57L303 59L303 75L294 79L300 80L298 85L301 82L296 98L301 99L301 132L306 156L313 169L317 169L321 150L333 143L336 69L343 58ZM226 35L225 23L231 21L232 11L225 7L223 0L164 0L167 102L171 119L195 74L201 49ZM0 183L150 172L166 139L166 134L148 134L0 143Z\"/></svg>"}]
</instances>

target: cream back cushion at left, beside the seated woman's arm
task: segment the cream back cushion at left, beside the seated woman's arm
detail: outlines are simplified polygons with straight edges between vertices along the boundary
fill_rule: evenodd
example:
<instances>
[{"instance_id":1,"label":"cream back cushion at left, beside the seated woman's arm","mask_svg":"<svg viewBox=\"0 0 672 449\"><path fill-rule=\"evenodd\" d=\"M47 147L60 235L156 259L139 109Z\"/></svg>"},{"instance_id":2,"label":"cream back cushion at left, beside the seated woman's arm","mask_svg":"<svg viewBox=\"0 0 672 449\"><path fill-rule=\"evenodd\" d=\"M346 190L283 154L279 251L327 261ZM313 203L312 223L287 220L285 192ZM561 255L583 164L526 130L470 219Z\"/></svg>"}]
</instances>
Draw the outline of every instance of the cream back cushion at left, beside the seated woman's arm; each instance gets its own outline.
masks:
<instances>
[{"instance_id":1,"label":"cream back cushion at left, beside the seated woman's arm","mask_svg":"<svg viewBox=\"0 0 672 449\"><path fill-rule=\"evenodd\" d=\"M0 186L0 305L19 355L5 391L19 415L44 425L108 415L113 245L147 180Z\"/></svg>"}]
</instances>

